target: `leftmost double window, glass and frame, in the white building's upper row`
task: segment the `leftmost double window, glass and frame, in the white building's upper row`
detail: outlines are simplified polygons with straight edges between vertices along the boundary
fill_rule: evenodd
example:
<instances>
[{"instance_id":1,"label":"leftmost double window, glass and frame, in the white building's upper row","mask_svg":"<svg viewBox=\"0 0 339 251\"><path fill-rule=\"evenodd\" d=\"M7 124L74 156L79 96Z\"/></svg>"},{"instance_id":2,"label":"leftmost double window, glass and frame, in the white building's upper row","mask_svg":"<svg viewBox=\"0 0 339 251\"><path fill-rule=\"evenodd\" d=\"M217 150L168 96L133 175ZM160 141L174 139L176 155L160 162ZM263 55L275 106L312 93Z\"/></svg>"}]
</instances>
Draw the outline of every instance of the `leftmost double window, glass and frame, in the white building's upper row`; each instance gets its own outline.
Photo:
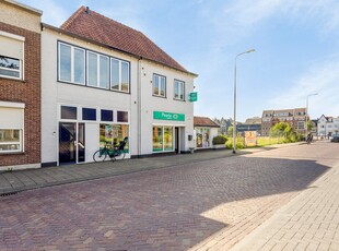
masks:
<instances>
[{"instance_id":1,"label":"leftmost double window, glass and frame, in the white building's upper row","mask_svg":"<svg viewBox=\"0 0 339 251\"><path fill-rule=\"evenodd\" d=\"M59 81L84 84L84 50L59 43Z\"/></svg>"}]
</instances>

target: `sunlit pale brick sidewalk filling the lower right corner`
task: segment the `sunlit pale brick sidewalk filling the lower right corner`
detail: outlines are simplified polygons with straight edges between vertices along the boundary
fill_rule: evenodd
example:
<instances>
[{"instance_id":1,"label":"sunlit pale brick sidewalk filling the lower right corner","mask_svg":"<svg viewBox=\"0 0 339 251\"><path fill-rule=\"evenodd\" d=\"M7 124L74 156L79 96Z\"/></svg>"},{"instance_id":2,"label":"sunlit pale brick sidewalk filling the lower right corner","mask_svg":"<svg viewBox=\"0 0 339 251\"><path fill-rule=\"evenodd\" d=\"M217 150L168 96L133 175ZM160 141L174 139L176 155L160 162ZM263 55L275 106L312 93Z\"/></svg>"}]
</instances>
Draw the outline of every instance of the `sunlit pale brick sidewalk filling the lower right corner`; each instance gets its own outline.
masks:
<instances>
[{"instance_id":1,"label":"sunlit pale brick sidewalk filling the lower right corner","mask_svg":"<svg viewBox=\"0 0 339 251\"><path fill-rule=\"evenodd\" d=\"M339 165L232 250L339 250Z\"/></svg>"}]
</instances>

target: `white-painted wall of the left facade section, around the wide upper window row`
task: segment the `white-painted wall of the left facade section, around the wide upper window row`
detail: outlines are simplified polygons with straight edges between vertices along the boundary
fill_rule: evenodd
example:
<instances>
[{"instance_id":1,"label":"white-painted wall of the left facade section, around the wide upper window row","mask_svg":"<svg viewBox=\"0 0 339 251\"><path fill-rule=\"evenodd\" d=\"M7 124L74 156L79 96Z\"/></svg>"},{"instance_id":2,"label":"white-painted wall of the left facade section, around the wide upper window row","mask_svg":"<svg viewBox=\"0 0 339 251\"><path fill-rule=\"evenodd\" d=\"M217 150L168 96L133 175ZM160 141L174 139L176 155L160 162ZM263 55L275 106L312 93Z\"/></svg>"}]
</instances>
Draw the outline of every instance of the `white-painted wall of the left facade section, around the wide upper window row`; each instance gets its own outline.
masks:
<instances>
[{"instance_id":1,"label":"white-painted wall of the left facade section, around the wide upper window row","mask_svg":"<svg viewBox=\"0 0 339 251\"><path fill-rule=\"evenodd\" d=\"M130 62L130 94L112 92L57 80L58 40L91 49ZM58 109L59 105L78 105L106 109L127 110L130 118L130 153L137 153L137 65L138 60L90 43L85 43L45 28L42 34L42 163L58 159ZM91 146L92 147L92 146ZM98 145L97 145L98 148ZM92 159L89 159L92 160Z\"/></svg>"}]
</instances>

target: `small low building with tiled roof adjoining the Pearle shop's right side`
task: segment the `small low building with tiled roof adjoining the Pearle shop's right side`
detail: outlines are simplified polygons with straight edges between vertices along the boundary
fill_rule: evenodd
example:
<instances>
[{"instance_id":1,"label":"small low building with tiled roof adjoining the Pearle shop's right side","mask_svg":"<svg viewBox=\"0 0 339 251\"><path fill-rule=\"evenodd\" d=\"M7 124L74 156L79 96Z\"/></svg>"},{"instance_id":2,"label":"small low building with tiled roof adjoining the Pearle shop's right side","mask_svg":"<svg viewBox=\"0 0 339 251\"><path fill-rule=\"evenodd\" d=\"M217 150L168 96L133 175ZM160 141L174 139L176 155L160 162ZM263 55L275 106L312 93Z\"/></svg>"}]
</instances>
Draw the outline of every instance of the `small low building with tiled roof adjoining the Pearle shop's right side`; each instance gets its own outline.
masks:
<instances>
[{"instance_id":1,"label":"small low building with tiled roof adjoining the Pearle shop's right side","mask_svg":"<svg viewBox=\"0 0 339 251\"><path fill-rule=\"evenodd\" d=\"M218 135L220 127L210 118L197 116L195 116L194 125L196 148L211 148L213 138Z\"/></svg>"}]
</instances>

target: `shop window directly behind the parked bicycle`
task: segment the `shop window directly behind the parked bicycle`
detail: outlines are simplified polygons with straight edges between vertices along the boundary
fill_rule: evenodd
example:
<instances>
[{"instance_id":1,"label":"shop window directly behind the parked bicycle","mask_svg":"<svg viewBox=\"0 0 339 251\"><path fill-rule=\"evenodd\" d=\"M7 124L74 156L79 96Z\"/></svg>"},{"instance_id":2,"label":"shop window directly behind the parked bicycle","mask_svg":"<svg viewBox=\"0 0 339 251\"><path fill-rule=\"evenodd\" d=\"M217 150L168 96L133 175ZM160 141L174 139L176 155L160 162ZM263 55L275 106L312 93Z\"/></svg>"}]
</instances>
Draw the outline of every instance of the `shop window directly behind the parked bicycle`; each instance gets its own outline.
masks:
<instances>
[{"instance_id":1,"label":"shop window directly behind the parked bicycle","mask_svg":"<svg viewBox=\"0 0 339 251\"><path fill-rule=\"evenodd\" d=\"M103 148L105 144L110 146L118 145L120 141L124 141L126 136L129 136L128 124L100 124L100 147ZM126 153L129 152L129 142L125 146Z\"/></svg>"}]
</instances>

